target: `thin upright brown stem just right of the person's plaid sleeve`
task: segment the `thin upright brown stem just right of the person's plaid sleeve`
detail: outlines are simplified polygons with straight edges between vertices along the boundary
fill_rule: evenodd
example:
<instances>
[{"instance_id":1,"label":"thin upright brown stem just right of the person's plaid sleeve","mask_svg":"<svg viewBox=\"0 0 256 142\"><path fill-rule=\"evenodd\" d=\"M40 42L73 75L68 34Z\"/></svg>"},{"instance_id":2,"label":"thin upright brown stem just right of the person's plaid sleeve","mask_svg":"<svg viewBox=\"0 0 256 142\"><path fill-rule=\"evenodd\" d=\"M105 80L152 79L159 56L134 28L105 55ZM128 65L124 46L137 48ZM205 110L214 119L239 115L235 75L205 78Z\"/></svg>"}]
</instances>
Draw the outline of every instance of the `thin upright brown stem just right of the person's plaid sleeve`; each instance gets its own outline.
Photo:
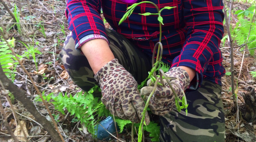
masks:
<instances>
[{"instance_id":1,"label":"thin upright brown stem just right of the person's plaid sleeve","mask_svg":"<svg viewBox=\"0 0 256 142\"><path fill-rule=\"evenodd\" d=\"M230 22L228 21L228 16L227 16L227 11L226 11L226 0L223 0L223 10L224 10L224 15L225 15L225 20L226 20L226 29L228 31L228 38L229 38L229 42L228 42L228 46L230 47L230 59L231 59L231 88L232 88L232 97L233 97L233 101L234 101L234 107L235 107L235 111L238 109L237 108L237 101L236 101L236 95L235 95L235 88L234 88L234 48L233 48L233 40L231 37L231 32L230 32Z\"/></svg>"}]
</instances>

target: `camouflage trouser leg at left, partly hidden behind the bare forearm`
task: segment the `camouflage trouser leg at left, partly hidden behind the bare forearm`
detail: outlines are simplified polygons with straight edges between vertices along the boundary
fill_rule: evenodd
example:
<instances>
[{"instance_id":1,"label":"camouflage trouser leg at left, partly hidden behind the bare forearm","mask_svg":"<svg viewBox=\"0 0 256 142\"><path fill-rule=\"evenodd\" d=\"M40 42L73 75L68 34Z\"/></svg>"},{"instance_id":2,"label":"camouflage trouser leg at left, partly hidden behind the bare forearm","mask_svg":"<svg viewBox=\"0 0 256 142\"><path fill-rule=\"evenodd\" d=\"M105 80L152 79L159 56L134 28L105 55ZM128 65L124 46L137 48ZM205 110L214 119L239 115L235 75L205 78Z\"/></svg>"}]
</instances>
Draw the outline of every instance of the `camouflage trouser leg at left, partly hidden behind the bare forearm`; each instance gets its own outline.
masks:
<instances>
[{"instance_id":1,"label":"camouflage trouser leg at left, partly hidden behind the bare forearm","mask_svg":"<svg viewBox=\"0 0 256 142\"><path fill-rule=\"evenodd\" d=\"M134 76L138 83L142 82L151 69L150 58L116 31L106 29L106 33L115 58ZM81 89L88 91L98 85L86 56L75 49L75 41L71 32L66 37L58 58L64 64L69 76ZM94 96L100 97L101 93L95 91Z\"/></svg>"}]
</instances>

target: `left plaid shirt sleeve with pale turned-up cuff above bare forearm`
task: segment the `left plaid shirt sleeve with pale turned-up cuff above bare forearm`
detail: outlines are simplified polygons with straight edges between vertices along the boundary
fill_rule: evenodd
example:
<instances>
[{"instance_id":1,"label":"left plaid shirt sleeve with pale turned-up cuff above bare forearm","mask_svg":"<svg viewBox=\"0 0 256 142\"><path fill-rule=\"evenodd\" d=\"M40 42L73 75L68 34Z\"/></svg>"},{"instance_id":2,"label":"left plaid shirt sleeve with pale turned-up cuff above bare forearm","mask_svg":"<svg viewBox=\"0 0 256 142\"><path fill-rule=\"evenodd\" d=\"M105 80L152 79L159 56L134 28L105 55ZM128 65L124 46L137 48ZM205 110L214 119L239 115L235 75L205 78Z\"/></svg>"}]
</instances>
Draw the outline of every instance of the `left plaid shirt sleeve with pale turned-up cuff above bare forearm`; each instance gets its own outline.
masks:
<instances>
[{"instance_id":1,"label":"left plaid shirt sleeve with pale turned-up cuff above bare forearm","mask_svg":"<svg viewBox=\"0 0 256 142\"><path fill-rule=\"evenodd\" d=\"M66 17L76 42L76 49L91 39L108 42L106 29L100 17L101 0L67 0ZM108 42L109 43L109 42Z\"/></svg>"}]
</instances>

